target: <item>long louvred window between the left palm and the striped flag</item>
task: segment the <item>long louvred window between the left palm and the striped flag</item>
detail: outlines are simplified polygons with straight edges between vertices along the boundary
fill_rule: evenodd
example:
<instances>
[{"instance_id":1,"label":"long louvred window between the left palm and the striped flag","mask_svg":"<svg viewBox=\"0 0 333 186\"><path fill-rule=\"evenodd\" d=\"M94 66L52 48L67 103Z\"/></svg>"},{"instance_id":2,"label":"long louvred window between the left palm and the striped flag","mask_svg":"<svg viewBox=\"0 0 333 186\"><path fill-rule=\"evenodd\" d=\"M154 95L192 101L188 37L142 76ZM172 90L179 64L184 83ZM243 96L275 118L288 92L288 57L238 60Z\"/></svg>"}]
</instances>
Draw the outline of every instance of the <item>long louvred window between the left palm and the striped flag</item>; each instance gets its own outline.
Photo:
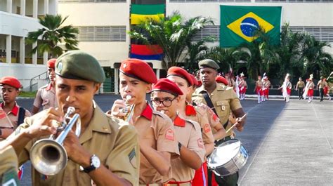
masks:
<instances>
[{"instance_id":1,"label":"long louvred window between the left palm and the striped flag","mask_svg":"<svg viewBox=\"0 0 333 186\"><path fill-rule=\"evenodd\" d=\"M126 26L77 27L80 42L126 42Z\"/></svg>"}]
</instances>

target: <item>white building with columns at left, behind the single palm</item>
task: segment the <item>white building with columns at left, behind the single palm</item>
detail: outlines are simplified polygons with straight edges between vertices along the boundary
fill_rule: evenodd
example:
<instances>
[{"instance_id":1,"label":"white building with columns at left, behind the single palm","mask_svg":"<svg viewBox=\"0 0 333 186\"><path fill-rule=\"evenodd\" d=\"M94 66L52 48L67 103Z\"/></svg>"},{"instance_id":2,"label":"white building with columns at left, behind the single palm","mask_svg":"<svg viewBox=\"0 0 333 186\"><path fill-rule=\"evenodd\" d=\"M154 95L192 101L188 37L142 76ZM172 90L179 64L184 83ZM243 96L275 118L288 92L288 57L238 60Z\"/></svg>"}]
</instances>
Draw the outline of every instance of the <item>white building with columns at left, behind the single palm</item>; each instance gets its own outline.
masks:
<instances>
[{"instance_id":1,"label":"white building with columns at left, behind the single palm","mask_svg":"<svg viewBox=\"0 0 333 186\"><path fill-rule=\"evenodd\" d=\"M32 54L36 44L27 45L25 38L41 27L38 17L57 12L58 0L0 1L0 77L16 77L25 89L32 78L34 84L40 74L46 78L48 54Z\"/></svg>"}]
</instances>

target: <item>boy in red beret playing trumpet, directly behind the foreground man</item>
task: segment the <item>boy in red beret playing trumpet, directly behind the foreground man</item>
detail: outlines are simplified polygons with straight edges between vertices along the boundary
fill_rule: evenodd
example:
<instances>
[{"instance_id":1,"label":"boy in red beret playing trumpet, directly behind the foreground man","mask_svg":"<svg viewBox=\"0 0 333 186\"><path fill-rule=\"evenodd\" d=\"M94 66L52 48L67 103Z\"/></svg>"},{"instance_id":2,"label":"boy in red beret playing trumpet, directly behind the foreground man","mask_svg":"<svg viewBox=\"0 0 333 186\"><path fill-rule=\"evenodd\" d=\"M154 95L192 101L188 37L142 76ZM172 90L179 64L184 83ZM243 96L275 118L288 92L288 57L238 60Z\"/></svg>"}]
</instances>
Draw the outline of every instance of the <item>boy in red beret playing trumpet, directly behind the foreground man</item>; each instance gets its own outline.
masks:
<instances>
[{"instance_id":1,"label":"boy in red beret playing trumpet, directly behind the foreground man","mask_svg":"<svg viewBox=\"0 0 333 186\"><path fill-rule=\"evenodd\" d=\"M122 118L138 131L141 160L140 185L162 184L163 175L171 168L171 155L179 154L172 121L155 111L145 100L146 93L157 82L155 72L143 60L122 61L119 69L119 91L123 100L115 100L111 115ZM126 107L130 109L126 110ZM123 111L130 113L124 113Z\"/></svg>"}]
</instances>

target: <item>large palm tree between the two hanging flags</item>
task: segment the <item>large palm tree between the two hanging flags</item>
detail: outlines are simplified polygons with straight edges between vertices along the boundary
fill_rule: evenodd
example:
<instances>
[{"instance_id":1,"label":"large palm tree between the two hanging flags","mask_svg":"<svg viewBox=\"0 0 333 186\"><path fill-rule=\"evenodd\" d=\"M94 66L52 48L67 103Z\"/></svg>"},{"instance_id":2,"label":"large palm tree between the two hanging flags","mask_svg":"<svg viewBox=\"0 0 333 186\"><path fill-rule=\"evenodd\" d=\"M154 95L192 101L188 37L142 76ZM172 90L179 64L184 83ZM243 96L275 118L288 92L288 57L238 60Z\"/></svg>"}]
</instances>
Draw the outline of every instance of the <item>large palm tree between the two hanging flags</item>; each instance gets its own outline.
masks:
<instances>
[{"instance_id":1,"label":"large palm tree between the two hanging flags","mask_svg":"<svg viewBox=\"0 0 333 186\"><path fill-rule=\"evenodd\" d=\"M138 39L144 44L158 44L163 48L162 62L166 69L183 62L187 53L187 44L193 36L205 25L214 24L210 18L201 16L184 20L183 16L175 12L166 18L156 21L148 19L133 27L129 32L132 39ZM145 34L142 34L145 33Z\"/></svg>"}]
</instances>

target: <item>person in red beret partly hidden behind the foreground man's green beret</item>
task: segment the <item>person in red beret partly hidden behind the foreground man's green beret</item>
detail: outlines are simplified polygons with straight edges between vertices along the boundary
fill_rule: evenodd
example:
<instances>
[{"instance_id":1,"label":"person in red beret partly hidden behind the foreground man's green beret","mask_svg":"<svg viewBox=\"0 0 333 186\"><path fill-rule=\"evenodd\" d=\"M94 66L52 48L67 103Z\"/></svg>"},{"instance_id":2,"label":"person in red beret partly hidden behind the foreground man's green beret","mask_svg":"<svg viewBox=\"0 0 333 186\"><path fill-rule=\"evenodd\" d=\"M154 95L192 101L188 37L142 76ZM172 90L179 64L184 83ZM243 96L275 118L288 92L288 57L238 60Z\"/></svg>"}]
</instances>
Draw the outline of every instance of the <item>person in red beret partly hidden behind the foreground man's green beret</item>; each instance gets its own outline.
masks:
<instances>
[{"instance_id":1,"label":"person in red beret partly hidden behind the foreground man's green beret","mask_svg":"<svg viewBox=\"0 0 333 186\"><path fill-rule=\"evenodd\" d=\"M34 106L32 114L39 112L40 107L48 109L49 107L58 107L58 102L55 97L55 72L54 65L57 59L51 59L47 62L47 74L50 83L38 89L36 98L34 98Z\"/></svg>"}]
</instances>

